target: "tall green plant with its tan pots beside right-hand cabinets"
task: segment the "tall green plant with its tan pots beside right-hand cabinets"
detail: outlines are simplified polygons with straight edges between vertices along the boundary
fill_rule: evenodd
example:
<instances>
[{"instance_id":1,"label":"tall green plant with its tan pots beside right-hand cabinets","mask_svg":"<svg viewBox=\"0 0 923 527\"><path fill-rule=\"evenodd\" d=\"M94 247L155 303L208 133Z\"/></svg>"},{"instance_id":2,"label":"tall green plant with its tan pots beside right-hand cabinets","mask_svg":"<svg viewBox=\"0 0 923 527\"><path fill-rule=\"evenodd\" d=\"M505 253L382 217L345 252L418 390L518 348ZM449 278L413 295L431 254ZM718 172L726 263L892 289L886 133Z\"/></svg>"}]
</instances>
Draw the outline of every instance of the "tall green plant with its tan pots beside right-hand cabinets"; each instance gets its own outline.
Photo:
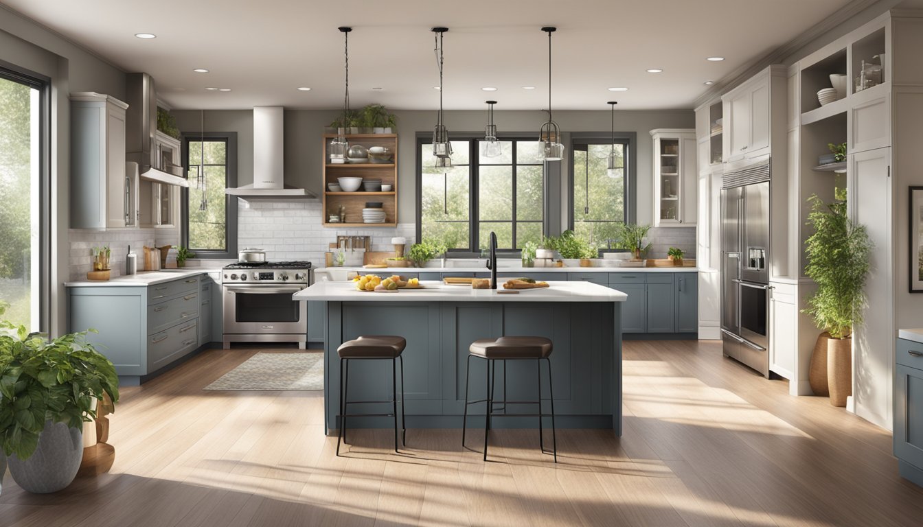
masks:
<instances>
[{"instance_id":1,"label":"tall green plant with its tan pots beside right-hand cabinets","mask_svg":"<svg viewBox=\"0 0 923 527\"><path fill-rule=\"evenodd\" d=\"M814 234L805 240L805 273L817 292L804 309L823 332L814 345L808 372L815 395L829 393L833 406L845 406L852 393L852 329L862 321L871 241L866 228L846 216L846 191L834 190L833 203L809 198L808 224Z\"/></svg>"}]
</instances>

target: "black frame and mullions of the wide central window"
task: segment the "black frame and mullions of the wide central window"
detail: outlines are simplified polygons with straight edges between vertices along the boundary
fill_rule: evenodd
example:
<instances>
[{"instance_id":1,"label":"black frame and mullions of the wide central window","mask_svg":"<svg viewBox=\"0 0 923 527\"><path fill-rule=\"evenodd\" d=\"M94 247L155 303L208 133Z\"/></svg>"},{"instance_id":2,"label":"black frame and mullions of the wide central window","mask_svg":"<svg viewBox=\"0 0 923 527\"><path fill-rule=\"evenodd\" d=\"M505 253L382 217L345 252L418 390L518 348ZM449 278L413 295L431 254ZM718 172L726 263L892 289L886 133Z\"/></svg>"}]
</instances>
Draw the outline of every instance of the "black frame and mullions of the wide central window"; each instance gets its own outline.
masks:
<instances>
[{"instance_id":1,"label":"black frame and mullions of the wide central window","mask_svg":"<svg viewBox=\"0 0 923 527\"><path fill-rule=\"evenodd\" d=\"M468 178L469 178L469 194L468 194L468 240L470 247L467 248L452 248L449 249L449 252L452 256L480 256L481 249L480 246L480 172L481 172L481 162L480 162L480 150L481 143L484 140L483 134L478 133L463 133L463 134L452 134L451 140L453 141L469 141L468 145ZM510 166L512 169L512 219L509 221L512 224L512 239L515 245L516 240L516 224L519 222L516 218L516 167L520 163L516 162L516 141L535 141L537 140L533 136L527 134L497 134L497 139L500 141L512 141L512 162L509 165L501 164L488 164L485 163L485 166ZM424 145L431 144L433 140L432 134L426 132L417 132L416 134L416 243L420 243L423 235L423 157L420 155L420 150ZM526 220L524 223L540 223L542 225L542 235L548 235L547 225L548 225L548 216L549 211L547 210L547 196L548 196L548 174L547 174L547 162L542 163L522 163L522 166L542 166L543 174L543 185L542 185L542 220ZM501 221L485 221L487 223L495 223ZM516 253L519 254L520 249L504 248L501 249L504 252Z\"/></svg>"}]
</instances>

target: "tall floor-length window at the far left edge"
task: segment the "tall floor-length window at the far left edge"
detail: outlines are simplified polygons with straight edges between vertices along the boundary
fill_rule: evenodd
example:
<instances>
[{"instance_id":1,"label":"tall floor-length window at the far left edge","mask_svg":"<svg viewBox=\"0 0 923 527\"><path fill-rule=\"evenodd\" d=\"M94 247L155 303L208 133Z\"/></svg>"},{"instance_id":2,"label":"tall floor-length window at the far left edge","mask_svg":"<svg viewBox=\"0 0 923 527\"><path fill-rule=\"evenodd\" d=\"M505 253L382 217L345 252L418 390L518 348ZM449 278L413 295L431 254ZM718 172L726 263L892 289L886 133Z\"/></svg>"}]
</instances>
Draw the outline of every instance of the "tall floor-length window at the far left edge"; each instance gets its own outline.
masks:
<instances>
[{"instance_id":1,"label":"tall floor-length window at the far left edge","mask_svg":"<svg viewBox=\"0 0 923 527\"><path fill-rule=\"evenodd\" d=\"M48 329L47 86L0 67L0 300L31 331Z\"/></svg>"}]
</instances>

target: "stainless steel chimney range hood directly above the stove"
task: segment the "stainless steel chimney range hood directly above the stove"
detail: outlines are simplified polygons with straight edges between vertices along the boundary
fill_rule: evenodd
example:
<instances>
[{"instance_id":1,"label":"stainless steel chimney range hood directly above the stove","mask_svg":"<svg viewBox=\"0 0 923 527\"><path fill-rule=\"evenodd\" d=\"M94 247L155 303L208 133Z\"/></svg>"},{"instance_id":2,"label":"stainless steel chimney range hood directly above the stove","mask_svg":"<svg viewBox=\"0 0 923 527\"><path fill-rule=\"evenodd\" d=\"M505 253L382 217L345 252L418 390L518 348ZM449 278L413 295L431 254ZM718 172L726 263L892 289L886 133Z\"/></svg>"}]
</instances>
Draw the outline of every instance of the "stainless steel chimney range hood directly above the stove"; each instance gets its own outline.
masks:
<instances>
[{"instance_id":1,"label":"stainless steel chimney range hood directly above the stove","mask_svg":"<svg viewBox=\"0 0 923 527\"><path fill-rule=\"evenodd\" d=\"M283 181L284 116L282 106L253 108L253 183L224 192L245 201L287 201L317 198Z\"/></svg>"}]
</instances>

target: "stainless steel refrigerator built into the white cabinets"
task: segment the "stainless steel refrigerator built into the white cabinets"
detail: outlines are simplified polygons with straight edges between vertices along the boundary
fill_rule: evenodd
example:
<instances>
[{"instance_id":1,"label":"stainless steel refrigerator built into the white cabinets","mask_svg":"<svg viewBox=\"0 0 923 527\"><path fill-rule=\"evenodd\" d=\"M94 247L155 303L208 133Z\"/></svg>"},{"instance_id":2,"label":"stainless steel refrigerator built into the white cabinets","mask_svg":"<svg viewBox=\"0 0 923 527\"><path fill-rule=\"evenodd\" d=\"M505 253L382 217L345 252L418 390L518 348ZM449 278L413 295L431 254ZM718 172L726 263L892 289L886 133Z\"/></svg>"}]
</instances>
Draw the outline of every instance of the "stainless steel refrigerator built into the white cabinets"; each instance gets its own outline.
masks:
<instances>
[{"instance_id":1,"label":"stainless steel refrigerator built into the white cabinets","mask_svg":"<svg viewBox=\"0 0 923 527\"><path fill-rule=\"evenodd\" d=\"M725 356L769 377L769 164L725 174L721 333Z\"/></svg>"}]
</instances>

